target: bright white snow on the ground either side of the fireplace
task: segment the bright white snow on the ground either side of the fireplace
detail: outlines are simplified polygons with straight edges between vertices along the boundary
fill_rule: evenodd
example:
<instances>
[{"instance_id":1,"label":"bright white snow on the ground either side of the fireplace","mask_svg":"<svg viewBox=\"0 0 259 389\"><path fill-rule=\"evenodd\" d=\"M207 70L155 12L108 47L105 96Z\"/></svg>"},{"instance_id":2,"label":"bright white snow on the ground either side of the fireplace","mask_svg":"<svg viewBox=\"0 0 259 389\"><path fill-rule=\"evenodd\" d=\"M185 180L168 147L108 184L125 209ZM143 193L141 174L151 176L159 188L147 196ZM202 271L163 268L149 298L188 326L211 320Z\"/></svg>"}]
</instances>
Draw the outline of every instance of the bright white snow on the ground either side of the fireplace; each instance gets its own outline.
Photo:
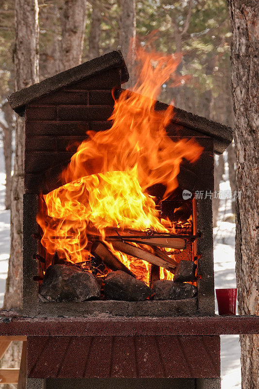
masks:
<instances>
[{"instance_id":1,"label":"bright white snow on the ground either side of the fireplace","mask_svg":"<svg viewBox=\"0 0 259 389\"><path fill-rule=\"evenodd\" d=\"M2 143L0 142L0 307L3 303L10 247L10 211L4 209L5 174ZM229 182L222 182L221 191L230 190ZM235 279L235 224L229 221L230 200L221 200L218 226L214 229L215 287L236 287ZM217 305L216 305L217 306ZM241 389L239 336L221 336L222 389Z\"/></svg>"}]
</instances>

